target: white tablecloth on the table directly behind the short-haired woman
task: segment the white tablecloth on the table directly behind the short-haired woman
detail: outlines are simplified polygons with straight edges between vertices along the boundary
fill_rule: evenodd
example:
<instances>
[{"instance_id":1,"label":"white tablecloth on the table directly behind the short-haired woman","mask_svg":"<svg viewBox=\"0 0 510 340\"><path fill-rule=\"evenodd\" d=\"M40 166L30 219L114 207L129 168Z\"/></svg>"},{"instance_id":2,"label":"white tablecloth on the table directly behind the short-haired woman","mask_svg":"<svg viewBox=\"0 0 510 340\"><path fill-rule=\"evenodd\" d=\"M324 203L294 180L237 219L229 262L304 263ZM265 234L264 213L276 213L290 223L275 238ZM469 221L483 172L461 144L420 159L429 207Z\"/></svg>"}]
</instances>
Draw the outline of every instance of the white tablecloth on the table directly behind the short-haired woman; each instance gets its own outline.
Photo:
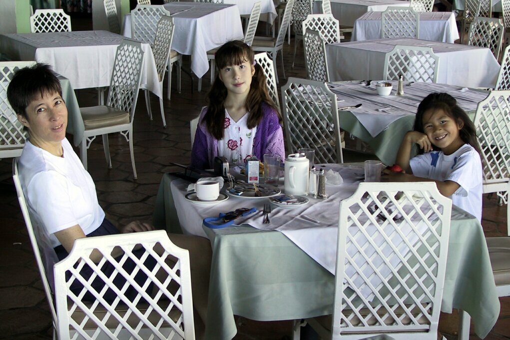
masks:
<instances>
[{"instance_id":1,"label":"white tablecloth on the table directly behind the short-haired woman","mask_svg":"<svg viewBox=\"0 0 510 340\"><path fill-rule=\"evenodd\" d=\"M0 35L0 51L12 60L49 64L74 89L110 86L117 46L125 37L107 31ZM142 44L145 62L141 87L162 97L152 49Z\"/></svg>"}]
</instances>

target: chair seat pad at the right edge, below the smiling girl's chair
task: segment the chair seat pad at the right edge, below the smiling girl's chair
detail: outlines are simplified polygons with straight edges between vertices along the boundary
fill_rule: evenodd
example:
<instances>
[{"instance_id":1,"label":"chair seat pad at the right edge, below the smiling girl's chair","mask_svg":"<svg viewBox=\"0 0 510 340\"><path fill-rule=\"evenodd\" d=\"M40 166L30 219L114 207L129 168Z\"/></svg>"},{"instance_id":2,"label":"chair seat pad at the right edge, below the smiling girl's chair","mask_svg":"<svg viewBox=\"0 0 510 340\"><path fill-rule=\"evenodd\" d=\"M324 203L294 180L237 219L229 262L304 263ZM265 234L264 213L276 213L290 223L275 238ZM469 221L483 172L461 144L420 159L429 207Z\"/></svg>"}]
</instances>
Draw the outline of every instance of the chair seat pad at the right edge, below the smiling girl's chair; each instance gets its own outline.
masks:
<instances>
[{"instance_id":1,"label":"chair seat pad at the right edge, below the smiling girl's chair","mask_svg":"<svg viewBox=\"0 0 510 340\"><path fill-rule=\"evenodd\" d=\"M510 284L510 237L487 238L496 285Z\"/></svg>"}]
</instances>

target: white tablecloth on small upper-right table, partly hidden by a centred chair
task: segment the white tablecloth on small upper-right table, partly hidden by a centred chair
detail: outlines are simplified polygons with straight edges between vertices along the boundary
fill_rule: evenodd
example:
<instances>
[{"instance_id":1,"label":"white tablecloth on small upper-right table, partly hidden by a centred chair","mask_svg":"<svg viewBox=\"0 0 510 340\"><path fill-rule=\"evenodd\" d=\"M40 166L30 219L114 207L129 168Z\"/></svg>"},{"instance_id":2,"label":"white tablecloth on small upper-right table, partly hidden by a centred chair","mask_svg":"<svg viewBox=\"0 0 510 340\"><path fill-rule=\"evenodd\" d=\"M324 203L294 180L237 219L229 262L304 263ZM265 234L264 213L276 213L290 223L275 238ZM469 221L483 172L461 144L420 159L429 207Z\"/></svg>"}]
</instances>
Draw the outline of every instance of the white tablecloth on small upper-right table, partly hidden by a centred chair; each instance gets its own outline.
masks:
<instances>
[{"instance_id":1,"label":"white tablecloth on small upper-right table, partly hidden by a centred chair","mask_svg":"<svg viewBox=\"0 0 510 340\"><path fill-rule=\"evenodd\" d=\"M368 12L356 19L351 41L380 39L381 13ZM458 31L453 12L420 13L420 39L451 43L457 40Z\"/></svg>"}]
</instances>

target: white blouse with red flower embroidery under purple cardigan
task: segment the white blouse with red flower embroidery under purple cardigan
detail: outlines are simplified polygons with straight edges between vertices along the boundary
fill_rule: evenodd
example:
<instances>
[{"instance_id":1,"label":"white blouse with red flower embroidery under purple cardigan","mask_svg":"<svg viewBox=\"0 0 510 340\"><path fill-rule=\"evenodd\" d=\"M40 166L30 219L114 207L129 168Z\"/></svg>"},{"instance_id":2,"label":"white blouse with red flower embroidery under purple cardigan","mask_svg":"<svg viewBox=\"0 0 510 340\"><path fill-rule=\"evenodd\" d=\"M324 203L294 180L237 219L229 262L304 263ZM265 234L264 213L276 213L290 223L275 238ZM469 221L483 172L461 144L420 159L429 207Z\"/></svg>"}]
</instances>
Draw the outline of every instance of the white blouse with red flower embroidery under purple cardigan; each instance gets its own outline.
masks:
<instances>
[{"instance_id":1,"label":"white blouse with red flower embroidery under purple cardigan","mask_svg":"<svg viewBox=\"0 0 510 340\"><path fill-rule=\"evenodd\" d=\"M246 158L252 155L253 138L257 133L257 126L251 129L246 125L248 114L237 122L225 110L223 139L218 141L218 156L226 158L231 164L244 164Z\"/></svg>"}]
</instances>

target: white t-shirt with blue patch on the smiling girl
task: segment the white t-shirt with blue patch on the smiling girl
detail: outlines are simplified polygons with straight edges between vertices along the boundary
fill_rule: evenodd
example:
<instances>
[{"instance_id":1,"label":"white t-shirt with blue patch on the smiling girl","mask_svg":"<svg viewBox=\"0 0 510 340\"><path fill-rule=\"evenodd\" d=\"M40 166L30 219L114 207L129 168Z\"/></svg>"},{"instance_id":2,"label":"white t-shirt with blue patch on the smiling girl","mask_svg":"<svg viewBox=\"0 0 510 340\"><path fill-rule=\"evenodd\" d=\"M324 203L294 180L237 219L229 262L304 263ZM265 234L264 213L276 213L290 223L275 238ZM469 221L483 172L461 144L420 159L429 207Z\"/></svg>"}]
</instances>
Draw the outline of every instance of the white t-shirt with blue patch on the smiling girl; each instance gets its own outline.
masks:
<instances>
[{"instance_id":1,"label":"white t-shirt with blue patch on the smiling girl","mask_svg":"<svg viewBox=\"0 0 510 340\"><path fill-rule=\"evenodd\" d=\"M417 155L409 162L413 174L435 180L452 180L460 185L451 200L481 221L481 195L483 172L480 155L469 144L446 155L442 151L431 151Z\"/></svg>"}]
</instances>

